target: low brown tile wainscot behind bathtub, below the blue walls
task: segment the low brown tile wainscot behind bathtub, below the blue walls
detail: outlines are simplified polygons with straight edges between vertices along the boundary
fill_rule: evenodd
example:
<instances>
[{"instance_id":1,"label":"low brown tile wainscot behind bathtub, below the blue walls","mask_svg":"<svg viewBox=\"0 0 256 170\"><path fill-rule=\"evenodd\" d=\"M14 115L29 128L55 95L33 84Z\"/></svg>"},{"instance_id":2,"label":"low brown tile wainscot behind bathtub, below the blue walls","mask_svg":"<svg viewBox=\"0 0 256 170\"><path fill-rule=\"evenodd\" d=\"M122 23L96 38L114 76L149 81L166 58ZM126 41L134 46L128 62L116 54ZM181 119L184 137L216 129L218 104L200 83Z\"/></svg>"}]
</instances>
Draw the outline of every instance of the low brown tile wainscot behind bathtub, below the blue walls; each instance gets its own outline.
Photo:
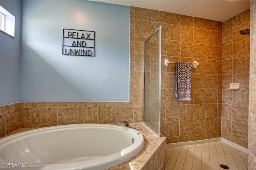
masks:
<instances>
[{"instance_id":1,"label":"low brown tile wainscot behind bathtub, below the blue walls","mask_svg":"<svg viewBox=\"0 0 256 170\"><path fill-rule=\"evenodd\" d=\"M0 106L0 137L20 127L48 127L74 123L142 122L130 102L20 102ZM141 115L139 117L138 115Z\"/></svg>"}]
</instances>

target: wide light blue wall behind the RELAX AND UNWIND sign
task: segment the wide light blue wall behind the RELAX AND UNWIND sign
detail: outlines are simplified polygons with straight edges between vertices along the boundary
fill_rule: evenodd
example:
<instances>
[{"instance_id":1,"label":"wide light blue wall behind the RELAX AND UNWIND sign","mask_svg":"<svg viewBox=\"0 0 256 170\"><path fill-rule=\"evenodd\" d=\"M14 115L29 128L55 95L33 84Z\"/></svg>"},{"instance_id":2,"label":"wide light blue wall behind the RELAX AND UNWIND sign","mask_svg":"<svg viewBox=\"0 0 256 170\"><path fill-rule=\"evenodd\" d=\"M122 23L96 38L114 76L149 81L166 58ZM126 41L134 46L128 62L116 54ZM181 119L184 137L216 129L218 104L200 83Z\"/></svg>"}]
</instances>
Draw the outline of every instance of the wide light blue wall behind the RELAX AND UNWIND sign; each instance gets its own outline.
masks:
<instances>
[{"instance_id":1,"label":"wide light blue wall behind the RELAX AND UNWIND sign","mask_svg":"<svg viewBox=\"0 0 256 170\"><path fill-rule=\"evenodd\" d=\"M20 102L128 101L128 6L22 3ZM63 29L95 31L95 57L62 55Z\"/></svg>"}]
</instances>

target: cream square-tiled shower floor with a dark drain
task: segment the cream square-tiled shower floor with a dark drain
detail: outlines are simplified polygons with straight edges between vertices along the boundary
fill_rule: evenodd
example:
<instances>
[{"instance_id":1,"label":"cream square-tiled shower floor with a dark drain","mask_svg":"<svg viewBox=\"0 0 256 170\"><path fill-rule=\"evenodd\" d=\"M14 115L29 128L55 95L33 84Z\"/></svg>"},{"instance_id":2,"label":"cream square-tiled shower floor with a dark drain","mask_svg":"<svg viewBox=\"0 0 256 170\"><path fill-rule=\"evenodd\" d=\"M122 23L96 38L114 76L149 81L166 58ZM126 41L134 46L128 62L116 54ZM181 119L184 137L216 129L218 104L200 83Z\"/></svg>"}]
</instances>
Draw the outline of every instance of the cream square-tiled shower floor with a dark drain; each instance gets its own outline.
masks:
<instances>
[{"instance_id":1,"label":"cream square-tiled shower floor with a dark drain","mask_svg":"<svg viewBox=\"0 0 256 170\"><path fill-rule=\"evenodd\" d=\"M248 154L224 142L166 148L165 170L247 170Z\"/></svg>"}]
</instances>

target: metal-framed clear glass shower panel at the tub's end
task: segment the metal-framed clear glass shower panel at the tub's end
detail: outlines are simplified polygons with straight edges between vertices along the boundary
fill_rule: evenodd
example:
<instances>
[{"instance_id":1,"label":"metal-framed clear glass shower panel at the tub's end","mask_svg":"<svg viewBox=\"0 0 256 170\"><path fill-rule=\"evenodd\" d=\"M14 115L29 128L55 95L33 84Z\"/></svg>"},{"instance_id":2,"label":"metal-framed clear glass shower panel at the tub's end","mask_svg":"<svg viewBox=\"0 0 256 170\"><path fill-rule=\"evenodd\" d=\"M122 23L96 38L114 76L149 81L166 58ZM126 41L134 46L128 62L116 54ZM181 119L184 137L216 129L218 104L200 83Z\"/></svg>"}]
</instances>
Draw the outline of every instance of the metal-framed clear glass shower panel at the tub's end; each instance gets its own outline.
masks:
<instances>
[{"instance_id":1,"label":"metal-framed clear glass shower panel at the tub's end","mask_svg":"<svg viewBox=\"0 0 256 170\"><path fill-rule=\"evenodd\" d=\"M161 26L144 42L143 122L160 137Z\"/></svg>"}]
</instances>

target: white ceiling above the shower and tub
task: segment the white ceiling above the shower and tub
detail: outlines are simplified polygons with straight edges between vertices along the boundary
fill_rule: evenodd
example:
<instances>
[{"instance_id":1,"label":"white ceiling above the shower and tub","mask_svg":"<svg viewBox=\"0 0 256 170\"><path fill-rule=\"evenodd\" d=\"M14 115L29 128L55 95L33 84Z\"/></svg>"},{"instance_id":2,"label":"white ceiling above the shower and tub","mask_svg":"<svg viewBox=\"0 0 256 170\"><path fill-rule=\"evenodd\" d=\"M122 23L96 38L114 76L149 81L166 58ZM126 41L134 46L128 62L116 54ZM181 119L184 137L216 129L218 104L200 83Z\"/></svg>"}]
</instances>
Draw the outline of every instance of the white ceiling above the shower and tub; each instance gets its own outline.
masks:
<instances>
[{"instance_id":1,"label":"white ceiling above the shower and tub","mask_svg":"<svg viewBox=\"0 0 256 170\"><path fill-rule=\"evenodd\" d=\"M250 0L93 0L225 21L250 8Z\"/></svg>"}]
</instances>

